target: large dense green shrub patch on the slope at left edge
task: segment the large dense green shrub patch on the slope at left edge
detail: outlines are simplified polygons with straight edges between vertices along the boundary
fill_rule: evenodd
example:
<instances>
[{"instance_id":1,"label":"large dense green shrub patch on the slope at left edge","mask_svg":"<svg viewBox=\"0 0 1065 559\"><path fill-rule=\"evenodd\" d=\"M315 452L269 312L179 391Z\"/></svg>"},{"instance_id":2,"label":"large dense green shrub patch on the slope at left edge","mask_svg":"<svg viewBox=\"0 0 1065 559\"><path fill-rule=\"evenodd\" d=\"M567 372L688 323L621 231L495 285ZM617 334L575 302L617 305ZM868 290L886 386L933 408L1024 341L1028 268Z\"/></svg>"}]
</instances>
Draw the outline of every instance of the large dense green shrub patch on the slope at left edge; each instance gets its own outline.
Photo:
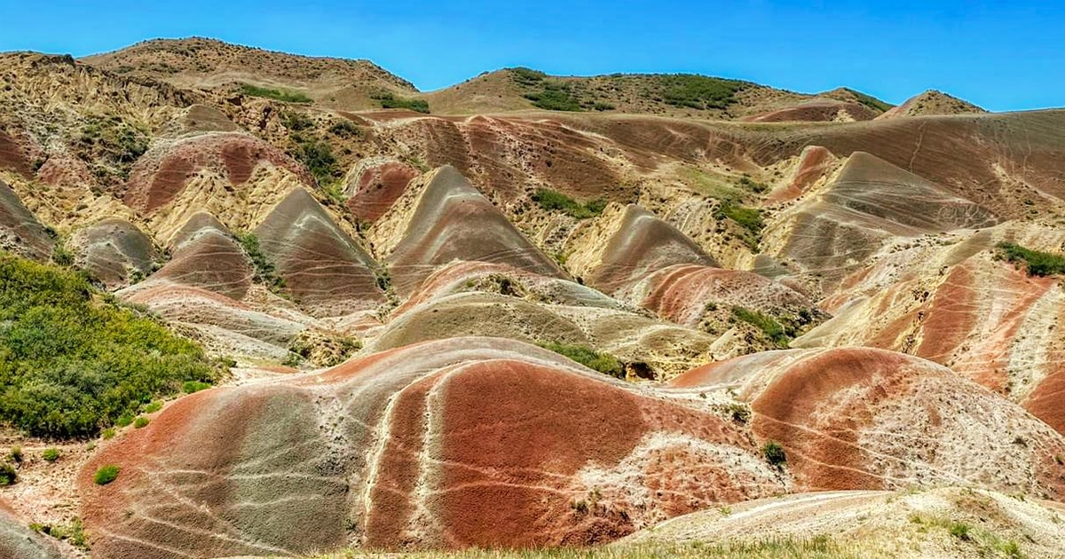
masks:
<instances>
[{"instance_id":1,"label":"large dense green shrub patch on the slope at left edge","mask_svg":"<svg viewBox=\"0 0 1065 559\"><path fill-rule=\"evenodd\" d=\"M108 302L83 275L0 254L0 422L91 437L218 375L195 343Z\"/></svg>"}]
</instances>

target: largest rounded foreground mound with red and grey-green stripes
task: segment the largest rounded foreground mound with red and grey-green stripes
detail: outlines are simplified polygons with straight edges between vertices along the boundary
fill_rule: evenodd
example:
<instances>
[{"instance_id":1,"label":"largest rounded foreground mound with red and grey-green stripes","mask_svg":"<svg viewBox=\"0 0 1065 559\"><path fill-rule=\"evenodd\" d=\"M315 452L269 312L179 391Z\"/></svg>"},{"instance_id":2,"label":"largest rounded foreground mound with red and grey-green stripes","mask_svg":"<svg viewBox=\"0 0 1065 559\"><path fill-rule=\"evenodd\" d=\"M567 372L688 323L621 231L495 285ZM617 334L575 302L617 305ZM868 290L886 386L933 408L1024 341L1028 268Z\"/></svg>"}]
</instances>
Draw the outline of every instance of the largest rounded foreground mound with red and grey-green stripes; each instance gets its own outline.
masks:
<instances>
[{"instance_id":1,"label":"largest rounded foreground mound with red and grey-green stripes","mask_svg":"<svg viewBox=\"0 0 1065 559\"><path fill-rule=\"evenodd\" d=\"M555 354L452 339L182 398L79 486L101 558L544 546L780 491L733 467L754 453L732 423ZM122 470L98 487L102 464Z\"/></svg>"}]
</instances>

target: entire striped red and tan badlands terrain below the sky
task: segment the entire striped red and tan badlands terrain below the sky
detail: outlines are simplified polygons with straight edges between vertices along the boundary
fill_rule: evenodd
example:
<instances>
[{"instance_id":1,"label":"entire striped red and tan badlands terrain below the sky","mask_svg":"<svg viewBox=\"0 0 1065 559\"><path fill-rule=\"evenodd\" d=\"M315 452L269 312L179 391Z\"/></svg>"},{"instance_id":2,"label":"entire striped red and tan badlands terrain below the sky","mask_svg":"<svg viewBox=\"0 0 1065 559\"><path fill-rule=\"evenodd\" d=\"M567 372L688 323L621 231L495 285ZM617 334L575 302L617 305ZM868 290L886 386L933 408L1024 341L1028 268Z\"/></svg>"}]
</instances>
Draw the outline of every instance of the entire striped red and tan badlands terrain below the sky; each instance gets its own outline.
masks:
<instances>
[{"instance_id":1,"label":"entire striped red and tan badlands terrain below the sky","mask_svg":"<svg viewBox=\"0 0 1065 559\"><path fill-rule=\"evenodd\" d=\"M1065 557L1065 111L0 54L0 557Z\"/></svg>"}]
</instances>

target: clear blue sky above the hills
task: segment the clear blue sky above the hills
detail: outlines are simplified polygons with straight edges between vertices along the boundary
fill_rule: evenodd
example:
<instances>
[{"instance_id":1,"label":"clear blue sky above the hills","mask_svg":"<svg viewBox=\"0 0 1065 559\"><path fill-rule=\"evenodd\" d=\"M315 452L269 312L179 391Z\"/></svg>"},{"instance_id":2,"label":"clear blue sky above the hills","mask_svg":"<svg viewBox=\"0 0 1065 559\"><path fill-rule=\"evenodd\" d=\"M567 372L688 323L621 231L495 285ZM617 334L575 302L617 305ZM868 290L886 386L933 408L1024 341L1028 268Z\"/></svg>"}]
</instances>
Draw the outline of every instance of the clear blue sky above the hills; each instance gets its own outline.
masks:
<instances>
[{"instance_id":1,"label":"clear blue sky above the hills","mask_svg":"<svg viewBox=\"0 0 1065 559\"><path fill-rule=\"evenodd\" d=\"M485 70L698 72L890 102L928 88L994 111L1065 106L1065 2L0 0L0 50L76 56L200 35L365 57L423 91Z\"/></svg>"}]
</instances>

